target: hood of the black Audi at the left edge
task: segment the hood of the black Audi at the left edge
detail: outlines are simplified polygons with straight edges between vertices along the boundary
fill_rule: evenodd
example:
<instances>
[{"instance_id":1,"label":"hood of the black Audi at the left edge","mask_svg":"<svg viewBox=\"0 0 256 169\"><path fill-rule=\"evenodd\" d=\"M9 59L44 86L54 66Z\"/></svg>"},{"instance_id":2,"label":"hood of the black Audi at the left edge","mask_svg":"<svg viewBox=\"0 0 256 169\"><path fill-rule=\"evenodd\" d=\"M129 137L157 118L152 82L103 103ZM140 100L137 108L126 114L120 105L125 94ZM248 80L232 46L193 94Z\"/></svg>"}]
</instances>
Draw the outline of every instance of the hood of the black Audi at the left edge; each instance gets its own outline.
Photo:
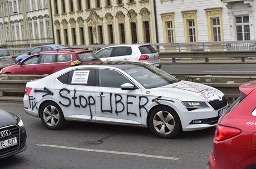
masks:
<instances>
[{"instance_id":1,"label":"hood of the black Audi at the left edge","mask_svg":"<svg viewBox=\"0 0 256 169\"><path fill-rule=\"evenodd\" d=\"M16 117L16 118L15 118ZM17 124L18 116L0 110L0 127Z\"/></svg>"}]
</instances>

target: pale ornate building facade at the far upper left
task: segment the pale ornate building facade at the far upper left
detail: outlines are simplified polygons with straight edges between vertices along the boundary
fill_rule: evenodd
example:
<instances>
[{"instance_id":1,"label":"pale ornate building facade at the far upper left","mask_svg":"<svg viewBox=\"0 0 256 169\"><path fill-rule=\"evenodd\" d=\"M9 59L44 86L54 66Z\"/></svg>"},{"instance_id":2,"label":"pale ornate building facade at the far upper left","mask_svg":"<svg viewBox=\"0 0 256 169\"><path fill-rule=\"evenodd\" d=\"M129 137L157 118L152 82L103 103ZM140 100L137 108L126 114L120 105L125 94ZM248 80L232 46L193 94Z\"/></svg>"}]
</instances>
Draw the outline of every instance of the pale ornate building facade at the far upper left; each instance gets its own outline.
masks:
<instances>
[{"instance_id":1,"label":"pale ornate building facade at the far upper left","mask_svg":"<svg viewBox=\"0 0 256 169\"><path fill-rule=\"evenodd\" d=\"M53 43L49 0L0 0L0 46L36 47Z\"/></svg>"}]
</instances>

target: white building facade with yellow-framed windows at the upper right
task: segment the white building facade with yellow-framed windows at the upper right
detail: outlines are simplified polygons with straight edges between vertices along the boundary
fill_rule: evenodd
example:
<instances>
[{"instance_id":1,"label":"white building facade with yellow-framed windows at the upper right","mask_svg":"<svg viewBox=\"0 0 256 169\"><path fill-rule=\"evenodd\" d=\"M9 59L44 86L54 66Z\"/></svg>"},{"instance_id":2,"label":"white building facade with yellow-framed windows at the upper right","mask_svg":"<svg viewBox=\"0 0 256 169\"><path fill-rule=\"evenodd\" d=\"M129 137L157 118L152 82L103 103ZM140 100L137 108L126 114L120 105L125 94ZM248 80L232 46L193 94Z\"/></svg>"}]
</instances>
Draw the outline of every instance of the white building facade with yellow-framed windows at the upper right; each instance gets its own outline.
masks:
<instances>
[{"instance_id":1,"label":"white building facade with yellow-framed windows at the upper right","mask_svg":"<svg viewBox=\"0 0 256 169\"><path fill-rule=\"evenodd\" d=\"M253 0L158 0L159 43L255 40Z\"/></svg>"}]
</instances>

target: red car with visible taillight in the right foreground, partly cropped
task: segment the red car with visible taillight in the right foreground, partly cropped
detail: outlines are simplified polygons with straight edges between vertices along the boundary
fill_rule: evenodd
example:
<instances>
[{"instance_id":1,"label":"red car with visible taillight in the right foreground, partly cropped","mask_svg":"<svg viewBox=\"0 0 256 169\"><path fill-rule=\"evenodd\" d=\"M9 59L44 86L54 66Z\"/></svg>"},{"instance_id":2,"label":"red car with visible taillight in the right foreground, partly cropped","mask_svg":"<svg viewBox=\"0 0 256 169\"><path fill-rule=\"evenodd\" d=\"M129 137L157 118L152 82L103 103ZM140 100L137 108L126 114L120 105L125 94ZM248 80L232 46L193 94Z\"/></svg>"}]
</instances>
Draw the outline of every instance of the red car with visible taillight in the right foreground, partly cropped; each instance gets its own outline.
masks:
<instances>
[{"instance_id":1,"label":"red car with visible taillight in the right foreground, partly cropped","mask_svg":"<svg viewBox=\"0 0 256 169\"><path fill-rule=\"evenodd\" d=\"M239 87L240 97L216 126L210 169L256 168L256 81Z\"/></svg>"}]
</instances>

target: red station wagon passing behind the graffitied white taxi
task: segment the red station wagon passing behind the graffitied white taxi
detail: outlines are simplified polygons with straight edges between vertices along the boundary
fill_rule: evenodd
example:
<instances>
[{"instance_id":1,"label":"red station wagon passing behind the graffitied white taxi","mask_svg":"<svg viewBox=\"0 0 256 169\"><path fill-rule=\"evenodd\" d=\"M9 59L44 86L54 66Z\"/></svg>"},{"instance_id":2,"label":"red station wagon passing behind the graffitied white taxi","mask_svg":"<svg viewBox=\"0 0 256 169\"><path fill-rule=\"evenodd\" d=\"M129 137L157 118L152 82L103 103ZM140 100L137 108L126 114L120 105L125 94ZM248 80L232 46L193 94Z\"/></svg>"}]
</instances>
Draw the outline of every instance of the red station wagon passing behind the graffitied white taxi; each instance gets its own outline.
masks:
<instances>
[{"instance_id":1,"label":"red station wagon passing behind the graffitied white taxi","mask_svg":"<svg viewBox=\"0 0 256 169\"><path fill-rule=\"evenodd\" d=\"M58 49L29 55L15 65L3 68L0 74L52 74L71 66L71 62L101 62L87 49Z\"/></svg>"}]
</instances>

